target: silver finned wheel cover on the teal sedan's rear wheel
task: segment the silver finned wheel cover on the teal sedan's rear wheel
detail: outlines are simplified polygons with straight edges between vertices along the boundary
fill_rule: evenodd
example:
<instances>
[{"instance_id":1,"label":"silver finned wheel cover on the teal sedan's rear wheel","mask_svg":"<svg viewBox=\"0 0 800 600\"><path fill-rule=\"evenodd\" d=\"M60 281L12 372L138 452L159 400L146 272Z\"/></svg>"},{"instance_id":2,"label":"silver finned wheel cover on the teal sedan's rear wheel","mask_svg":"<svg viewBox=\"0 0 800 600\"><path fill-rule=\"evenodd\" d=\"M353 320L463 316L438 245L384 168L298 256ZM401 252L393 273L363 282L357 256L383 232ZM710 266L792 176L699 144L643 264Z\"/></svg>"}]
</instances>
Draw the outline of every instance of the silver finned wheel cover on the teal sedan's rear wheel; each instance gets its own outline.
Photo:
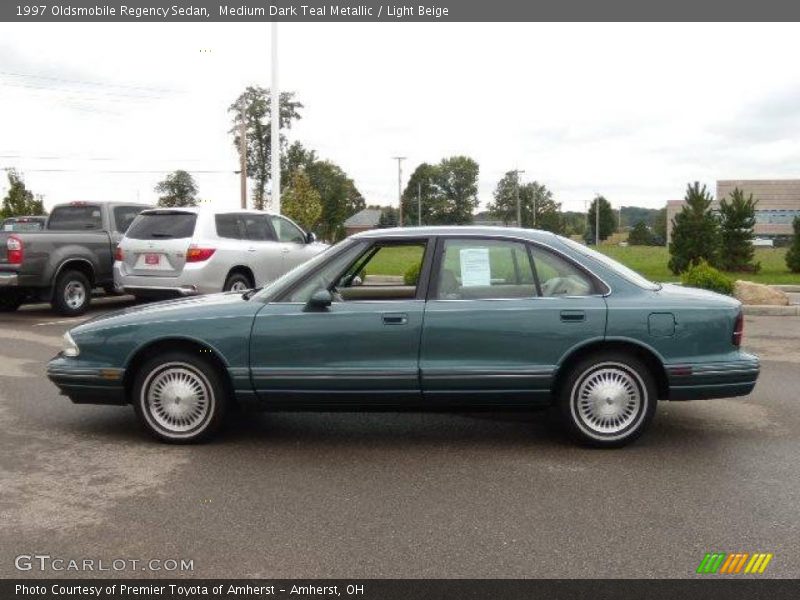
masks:
<instances>
[{"instance_id":1,"label":"silver finned wheel cover on the teal sedan's rear wheel","mask_svg":"<svg viewBox=\"0 0 800 600\"><path fill-rule=\"evenodd\" d=\"M619 363L587 369L572 389L576 424L597 439L624 437L646 413L647 389L637 373Z\"/></svg>"}]
</instances>

